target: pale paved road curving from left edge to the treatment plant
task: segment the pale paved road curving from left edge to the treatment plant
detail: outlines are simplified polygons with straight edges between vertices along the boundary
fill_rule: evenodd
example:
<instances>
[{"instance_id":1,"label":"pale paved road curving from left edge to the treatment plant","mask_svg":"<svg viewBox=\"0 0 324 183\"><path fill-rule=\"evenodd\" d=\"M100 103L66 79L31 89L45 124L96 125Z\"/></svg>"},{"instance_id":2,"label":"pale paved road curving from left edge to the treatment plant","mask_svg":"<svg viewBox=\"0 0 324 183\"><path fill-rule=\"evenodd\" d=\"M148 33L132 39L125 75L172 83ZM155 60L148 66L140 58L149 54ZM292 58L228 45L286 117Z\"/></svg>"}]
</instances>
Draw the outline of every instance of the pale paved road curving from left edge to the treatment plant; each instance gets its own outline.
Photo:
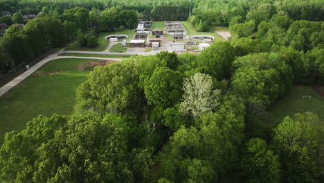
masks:
<instances>
[{"instance_id":1,"label":"pale paved road curving from left edge to the treatment plant","mask_svg":"<svg viewBox=\"0 0 324 183\"><path fill-rule=\"evenodd\" d=\"M39 67L42 67L44 64L51 60L59 59L59 58L87 58L87 59L99 59L99 60L114 60L114 61L120 61L120 58L96 58L96 57L73 57L73 56L59 56L64 53L83 53L83 54L105 54L105 55L155 55L156 53L159 53L161 51L170 51L171 46L163 45L161 47L160 51L151 51L151 52L137 52L137 51L128 51L126 53L114 53L110 52L111 46L114 44L118 44L120 42L114 42L111 43L108 48L105 51L64 51L64 49L58 51L57 53L54 53L52 55L48 55L46 58L43 58L41 61L39 61L37 64L35 64L33 67L30 67L30 69L26 70L24 73L21 73L17 78L13 79L12 81L8 82L6 85L0 88L0 97L3 96L3 94L6 94L10 89L17 86L21 81L26 79L30 74L37 71Z\"/></svg>"}]
</instances>

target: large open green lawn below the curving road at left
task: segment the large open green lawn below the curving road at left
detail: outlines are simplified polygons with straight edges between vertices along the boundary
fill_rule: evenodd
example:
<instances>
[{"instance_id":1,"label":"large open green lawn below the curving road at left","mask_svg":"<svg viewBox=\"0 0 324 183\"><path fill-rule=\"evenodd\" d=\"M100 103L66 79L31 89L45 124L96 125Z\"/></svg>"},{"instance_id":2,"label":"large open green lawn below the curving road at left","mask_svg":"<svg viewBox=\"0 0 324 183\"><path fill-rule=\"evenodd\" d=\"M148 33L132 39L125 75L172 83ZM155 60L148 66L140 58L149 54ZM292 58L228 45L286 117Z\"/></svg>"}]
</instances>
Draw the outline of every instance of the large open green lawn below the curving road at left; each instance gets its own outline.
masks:
<instances>
[{"instance_id":1,"label":"large open green lawn below the curving road at left","mask_svg":"<svg viewBox=\"0 0 324 183\"><path fill-rule=\"evenodd\" d=\"M75 91L89 73L78 69L78 65L84 62L89 60L68 58L48 62L1 96L0 143L3 143L5 132L26 128L26 123L39 114L71 114L75 104ZM33 77L37 73L57 71L62 72Z\"/></svg>"}]
</instances>

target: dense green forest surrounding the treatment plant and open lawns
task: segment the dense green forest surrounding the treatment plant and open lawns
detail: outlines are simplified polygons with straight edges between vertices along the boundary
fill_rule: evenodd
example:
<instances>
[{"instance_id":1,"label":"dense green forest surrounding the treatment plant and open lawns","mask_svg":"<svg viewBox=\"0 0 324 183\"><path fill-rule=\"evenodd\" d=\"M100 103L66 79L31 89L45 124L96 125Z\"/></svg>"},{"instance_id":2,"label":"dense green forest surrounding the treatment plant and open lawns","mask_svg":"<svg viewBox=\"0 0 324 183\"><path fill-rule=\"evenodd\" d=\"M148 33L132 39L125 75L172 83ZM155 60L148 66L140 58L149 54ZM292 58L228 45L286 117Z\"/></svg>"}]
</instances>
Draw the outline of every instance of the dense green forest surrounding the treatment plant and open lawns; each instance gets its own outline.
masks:
<instances>
[{"instance_id":1,"label":"dense green forest surrounding the treatment plant and open lawns","mask_svg":"<svg viewBox=\"0 0 324 183\"><path fill-rule=\"evenodd\" d=\"M96 36L137 17L163 20L163 7L188 7L148 0L1 3L2 10L39 6L30 12L44 13L1 38L0 60L17 64L82 40L89 27ZM38 116L6 134L0 180L323 182L324 119L296 113L274 125L264 116L292 85L324 85L323 1L196 0L192 7L192 25L229 26L231 42L215 42L200 55L161 52L95 67L78 87L71 116Z\"/></svg>"}]
</instances>

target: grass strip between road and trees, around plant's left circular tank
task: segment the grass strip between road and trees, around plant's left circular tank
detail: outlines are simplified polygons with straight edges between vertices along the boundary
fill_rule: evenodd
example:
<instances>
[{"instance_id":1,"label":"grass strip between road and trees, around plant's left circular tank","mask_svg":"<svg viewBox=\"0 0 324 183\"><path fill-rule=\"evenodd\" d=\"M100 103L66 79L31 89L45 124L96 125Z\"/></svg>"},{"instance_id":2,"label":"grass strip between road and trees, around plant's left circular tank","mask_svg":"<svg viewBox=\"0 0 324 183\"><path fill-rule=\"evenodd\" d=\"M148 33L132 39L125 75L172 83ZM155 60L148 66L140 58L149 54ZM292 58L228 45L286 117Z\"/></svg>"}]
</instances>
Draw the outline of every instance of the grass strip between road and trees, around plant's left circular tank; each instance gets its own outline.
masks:
<instances>
[{"instance_id":1,"label":"grass strip between road and trees, around plant's left circular tank","mask_svg":"<svg viewBox=\"0 0 324 183\"><path fill-rule=\"evenodd\" d=\"M109 46L109 40L105 39L107 35L129 35L129 38L127 38L127 40L132 40L135 33L134 31L135 29L129 30L126 28L120 28L120 29L116 29L116 31L114 32L99 33L99 37L98 37L99 46L96 46L95 48L89 48L87 46L81 46L78 42L75 42L74 44L68 46L65 50L66 51L105 51Z\"/></svg>"}]
</instances>

